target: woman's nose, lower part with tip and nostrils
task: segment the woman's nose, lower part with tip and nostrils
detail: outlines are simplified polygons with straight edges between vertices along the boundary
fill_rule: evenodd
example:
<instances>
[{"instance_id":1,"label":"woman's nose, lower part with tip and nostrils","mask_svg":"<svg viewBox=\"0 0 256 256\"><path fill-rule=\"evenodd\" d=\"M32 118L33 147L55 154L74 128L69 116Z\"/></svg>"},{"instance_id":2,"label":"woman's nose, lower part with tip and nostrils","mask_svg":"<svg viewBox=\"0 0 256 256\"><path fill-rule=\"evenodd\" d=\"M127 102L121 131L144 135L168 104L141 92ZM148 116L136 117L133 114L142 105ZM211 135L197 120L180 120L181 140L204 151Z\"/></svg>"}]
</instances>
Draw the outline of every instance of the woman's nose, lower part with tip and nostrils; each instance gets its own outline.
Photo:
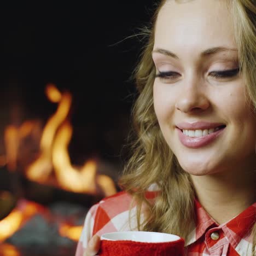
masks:
<instances>
[{"instance_id":1,"label":"woman's nose, lower part with tip and nostrils","mask_svg":"<svg viewBox=\"0 0 256 256\"><path fill-rule=\"evenodd\" d=\"M210 106L208 96L199 86L187 86L178 96L175 107L184 113L201 112Z\"/></svg>"}]
</instances>

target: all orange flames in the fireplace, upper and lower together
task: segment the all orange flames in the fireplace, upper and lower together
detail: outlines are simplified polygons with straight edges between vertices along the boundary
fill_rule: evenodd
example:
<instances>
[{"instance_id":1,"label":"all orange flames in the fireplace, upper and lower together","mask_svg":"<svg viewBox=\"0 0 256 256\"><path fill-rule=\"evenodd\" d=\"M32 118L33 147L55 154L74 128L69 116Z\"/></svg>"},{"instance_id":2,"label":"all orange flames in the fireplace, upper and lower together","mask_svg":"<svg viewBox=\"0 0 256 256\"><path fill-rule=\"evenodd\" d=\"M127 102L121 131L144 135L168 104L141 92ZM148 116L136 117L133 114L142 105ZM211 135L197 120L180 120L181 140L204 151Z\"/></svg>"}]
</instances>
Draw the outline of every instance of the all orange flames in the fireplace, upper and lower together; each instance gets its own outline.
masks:
<instances>
[{"instance_id":1,"label":"all orange flames in the fireplace, upper and lower together","mask_svg":"<svg viewBox=\"0 0 256 256\"><path fill-rule=\"evenodd\" d=\"M48 183L53 177L57 184L68 191L75 193L96 194L101 190L104 195L115 194L115 183L113 180L97 173L97 162L86 161L83 166L72 165L68 153L68 145L72 138L72 125L68 115L72 104L72 96L69 92L60 92L53 84L46 86L46 95L49 101L57 103L56 112L49 118L42 130L42 125L38 121L25 121L22 125L9 125L5 129L4 143L5 155L0 155L0 166L7 165L9 171L20 170L20 158L23 158L27 151L20 152L24 148L24 141L28 136L36 141L36 149L39 153L32 158L28 156L30 164L26 161L21 170L25 169L28 179L38 183ZM39 139L40 138L40 139ZM40 141L40 143L38 143ZM26 146L26 144L25 144ZM34 147L32 147L34 150ZM25 155L26 156L26 155ZM36 160L33 160L35 159ZM31 160L30 160L31 159ZM32 161L32 163L31 163ZM20 256L19 251L14 246L3 243L36 213L49 213L45 207L37 203L19 200L14 210L7 217L0 220L0 255ZM45 214L47 213L47 214ZM75 226L70 223L59 224L59 234L68 237L73 241L78 241L82 233L83 226Z\"/></svg>"}]
</instances>

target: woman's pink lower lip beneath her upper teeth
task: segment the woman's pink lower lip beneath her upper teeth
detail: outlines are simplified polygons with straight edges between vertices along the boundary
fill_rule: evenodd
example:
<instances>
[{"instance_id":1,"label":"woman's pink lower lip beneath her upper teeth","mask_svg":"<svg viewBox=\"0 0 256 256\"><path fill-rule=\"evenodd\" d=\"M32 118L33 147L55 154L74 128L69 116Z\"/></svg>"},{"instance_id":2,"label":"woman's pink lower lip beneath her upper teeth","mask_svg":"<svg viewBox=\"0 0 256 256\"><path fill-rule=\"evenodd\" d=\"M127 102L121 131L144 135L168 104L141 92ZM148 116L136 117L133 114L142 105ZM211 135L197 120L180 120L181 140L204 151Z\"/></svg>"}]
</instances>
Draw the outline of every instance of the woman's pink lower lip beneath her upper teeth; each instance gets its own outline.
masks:
<instances>
[{"instance_id":1,"label":"woman's pink lower lip beneath her upper teeth","mask_svg":"<svg viewBox=\"0 0 256 256\"><path fill-rule=\"evenodd\" d=\"M187 126L188 127L188 126ZM214 131L208 135L201 137L189 137L183 133L179 128L176 128L178 131L179 140L187 148L200 148L210 144L214 139L216 139L225 129L225 127L220 128L217 131Z\"/></svg>"}]
</instances>

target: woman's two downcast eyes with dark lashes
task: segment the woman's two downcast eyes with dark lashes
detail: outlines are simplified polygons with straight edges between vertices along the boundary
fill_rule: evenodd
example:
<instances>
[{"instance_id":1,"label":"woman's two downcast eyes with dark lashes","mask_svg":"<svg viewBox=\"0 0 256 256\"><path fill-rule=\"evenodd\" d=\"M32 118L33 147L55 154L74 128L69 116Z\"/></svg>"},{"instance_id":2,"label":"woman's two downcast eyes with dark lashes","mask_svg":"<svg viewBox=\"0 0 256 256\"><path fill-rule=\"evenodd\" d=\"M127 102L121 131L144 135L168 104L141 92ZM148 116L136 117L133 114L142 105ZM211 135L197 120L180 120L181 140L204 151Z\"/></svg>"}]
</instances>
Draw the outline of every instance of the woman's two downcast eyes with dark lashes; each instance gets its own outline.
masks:
<instances>
[{"instance_id":1,"label":"woman's two downcast eyes with dark lashes","mask_svg":"<svg viewBox=\"0 0 256 256\"><path fill-rule=\"evenodd\" d=\"M238 73L240 73L240 68L228 69L224 71L211 71L208 73L208 75L216 79L225 79L225 78L236 77ZM165 80L175 80L181 77L181 74L173 71L167 71L167 72L159 72L158 74L155 75L155 77L160 79L165 79Z\"/></svg>"}]
</instances>

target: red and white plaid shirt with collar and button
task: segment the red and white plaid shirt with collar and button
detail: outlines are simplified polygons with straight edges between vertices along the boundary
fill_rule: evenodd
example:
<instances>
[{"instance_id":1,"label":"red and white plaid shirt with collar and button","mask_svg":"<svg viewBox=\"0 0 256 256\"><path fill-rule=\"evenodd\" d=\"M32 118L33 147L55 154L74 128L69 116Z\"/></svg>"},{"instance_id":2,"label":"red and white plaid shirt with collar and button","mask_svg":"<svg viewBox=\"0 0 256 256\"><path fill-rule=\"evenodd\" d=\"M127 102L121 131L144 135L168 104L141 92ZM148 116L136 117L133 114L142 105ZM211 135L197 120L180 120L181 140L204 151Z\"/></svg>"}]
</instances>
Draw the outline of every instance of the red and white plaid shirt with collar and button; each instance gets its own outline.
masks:
<instances>
[{"instance_id":1,"label":"red and white plaid shirt with collar and button","mask_svg":"<svg viewBox=\"0 0 256 256\"><path fill-rule=\"evenodd\" d=\"M91 207L85 218L75 256L83 256L94 234L101 236L107 232L137 230L136 206L131 210L130 224L128 222L131 199L127 193L120 192ZM195 211L197 225L185 242L187 255L251 255L252 243L249 236L255 223L256 203L222 225L218 225L197 200Z\"/></svg>"}]
</instances>

